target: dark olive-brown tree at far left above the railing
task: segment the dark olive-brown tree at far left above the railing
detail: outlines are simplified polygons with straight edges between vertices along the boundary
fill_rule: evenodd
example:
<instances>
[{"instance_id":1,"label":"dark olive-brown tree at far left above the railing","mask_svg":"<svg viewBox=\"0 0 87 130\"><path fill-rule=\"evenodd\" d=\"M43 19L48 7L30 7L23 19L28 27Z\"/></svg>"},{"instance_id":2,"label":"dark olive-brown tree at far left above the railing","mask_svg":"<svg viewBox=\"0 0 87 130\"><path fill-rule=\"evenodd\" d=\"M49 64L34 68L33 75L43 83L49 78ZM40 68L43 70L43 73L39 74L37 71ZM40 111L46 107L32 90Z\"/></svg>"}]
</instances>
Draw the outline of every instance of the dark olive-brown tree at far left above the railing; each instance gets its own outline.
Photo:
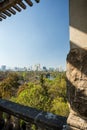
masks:
<instances>
[{"instance_id":1,"label":"dark olive-brown tree at far left above the railing","mask_svg":"<svg viewBox=\"0 0 87 130\"><path fill-rule=\"evenodd\" d=\"M0 93L3 98L9 99L12 95L15 95L19 77L16 73L9 73L7 78L0 82Z\"/></svg>"}]
</instances>

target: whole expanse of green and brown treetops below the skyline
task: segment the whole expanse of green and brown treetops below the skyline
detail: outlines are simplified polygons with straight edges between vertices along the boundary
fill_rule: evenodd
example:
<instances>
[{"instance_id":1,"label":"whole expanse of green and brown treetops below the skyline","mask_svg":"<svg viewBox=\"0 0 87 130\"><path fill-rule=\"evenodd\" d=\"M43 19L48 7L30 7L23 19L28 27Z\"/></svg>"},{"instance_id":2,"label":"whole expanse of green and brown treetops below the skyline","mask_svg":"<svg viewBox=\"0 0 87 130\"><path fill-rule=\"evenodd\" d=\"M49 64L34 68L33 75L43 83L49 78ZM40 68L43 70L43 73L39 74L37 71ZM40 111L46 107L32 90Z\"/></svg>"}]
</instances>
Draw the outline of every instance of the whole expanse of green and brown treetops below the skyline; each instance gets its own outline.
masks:
<instances>
[{"instance_id":1,"label":"whole expanse of green and brown treetops below the skyline","mask_svg":"<svg viewBox=\"0 0 87 130\"><path fill-rule=\"evenodd\" d=\"M65 72L0 72L3 99L68 116Z\"/></svg>"}]
</instances>

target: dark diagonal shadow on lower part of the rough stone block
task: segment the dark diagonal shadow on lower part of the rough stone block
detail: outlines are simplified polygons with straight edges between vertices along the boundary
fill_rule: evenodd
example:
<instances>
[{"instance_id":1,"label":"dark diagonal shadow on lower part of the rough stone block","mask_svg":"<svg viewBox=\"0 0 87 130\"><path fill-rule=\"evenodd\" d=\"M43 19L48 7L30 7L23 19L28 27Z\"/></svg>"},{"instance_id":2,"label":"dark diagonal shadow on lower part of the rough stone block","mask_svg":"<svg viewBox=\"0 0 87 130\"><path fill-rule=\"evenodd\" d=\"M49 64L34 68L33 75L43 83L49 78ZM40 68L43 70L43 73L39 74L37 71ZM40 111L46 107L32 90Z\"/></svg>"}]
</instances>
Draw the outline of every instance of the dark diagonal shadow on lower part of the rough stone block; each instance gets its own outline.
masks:
<instances>
[{"instance_id":1,"label":"dark diagonal shadow on lower part of the rough stone block","mask_svg":"<svg viewBox=\"0 0 87 130\"><path fill-rule=\"evenodd\" d=\"M85 83L83 84L85 85ZM68 102L73 111L77 112L78 115L87 117L87 95L86 90L81 90L78 85L72 84L67 79L67 98Z\"/></svg>"}]
</instances>

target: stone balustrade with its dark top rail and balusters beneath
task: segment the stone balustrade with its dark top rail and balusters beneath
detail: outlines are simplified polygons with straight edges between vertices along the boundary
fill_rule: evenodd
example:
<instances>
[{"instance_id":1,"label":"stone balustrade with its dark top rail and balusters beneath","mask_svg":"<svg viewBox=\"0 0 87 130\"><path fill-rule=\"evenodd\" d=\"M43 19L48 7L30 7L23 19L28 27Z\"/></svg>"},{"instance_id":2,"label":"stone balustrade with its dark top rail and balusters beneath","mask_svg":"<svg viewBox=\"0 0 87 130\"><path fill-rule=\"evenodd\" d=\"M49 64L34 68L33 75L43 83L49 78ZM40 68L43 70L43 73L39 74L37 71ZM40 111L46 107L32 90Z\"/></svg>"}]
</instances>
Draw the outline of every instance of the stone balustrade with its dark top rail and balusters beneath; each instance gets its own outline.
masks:
<instances>
[{"instance_id":1,"label":"stone balustrade with its dark top rail and balusters beneath","mask_svg":"<svg viewBox=\"0 0 87 130\"><path fill-rule=\"evenodd\" d=\"M65 130L66 120L66 117L0 99L0 130L33 130L32 126L35 130Z\"/></svg>"}]
</instances>

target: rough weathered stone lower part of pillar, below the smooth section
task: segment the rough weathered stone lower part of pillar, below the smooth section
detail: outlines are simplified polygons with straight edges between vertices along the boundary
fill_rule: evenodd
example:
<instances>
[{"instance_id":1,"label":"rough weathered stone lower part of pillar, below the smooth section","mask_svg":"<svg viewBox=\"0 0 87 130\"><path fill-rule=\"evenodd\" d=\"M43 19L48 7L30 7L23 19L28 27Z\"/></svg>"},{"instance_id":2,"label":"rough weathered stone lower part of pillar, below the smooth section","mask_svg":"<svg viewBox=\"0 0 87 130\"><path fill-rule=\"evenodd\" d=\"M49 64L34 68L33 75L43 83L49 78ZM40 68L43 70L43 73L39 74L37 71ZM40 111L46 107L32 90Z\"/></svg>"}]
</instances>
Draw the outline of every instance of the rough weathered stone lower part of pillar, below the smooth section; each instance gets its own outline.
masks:
<instances>
[{"instance_id":1,"label":"rough weathered stone lower part of pillar, below the smooth section","mask_svg":"<svg viewBox=\"0 0 87 130\"><path fill-rule=\"evenodd\" d=\"M67 56L67 96L72 110L68 124L87 130L87 50L75 48Z\"/></svg>"}]
</instances>

